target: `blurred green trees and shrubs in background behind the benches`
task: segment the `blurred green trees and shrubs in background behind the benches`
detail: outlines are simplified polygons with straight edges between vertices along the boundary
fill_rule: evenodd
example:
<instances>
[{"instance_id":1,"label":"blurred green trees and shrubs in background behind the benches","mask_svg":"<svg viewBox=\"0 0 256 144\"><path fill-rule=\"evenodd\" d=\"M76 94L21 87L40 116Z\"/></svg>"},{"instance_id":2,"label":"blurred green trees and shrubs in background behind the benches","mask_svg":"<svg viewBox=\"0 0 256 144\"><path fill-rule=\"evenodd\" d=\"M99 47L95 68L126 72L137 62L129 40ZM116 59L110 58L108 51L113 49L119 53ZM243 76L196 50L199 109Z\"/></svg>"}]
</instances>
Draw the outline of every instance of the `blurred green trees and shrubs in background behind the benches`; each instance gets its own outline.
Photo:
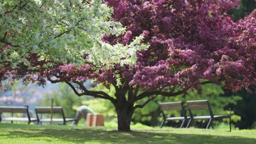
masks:
<instances>
[{"instance_id":1,"label":"blurred green trees and shrubs in background behind the benches","mask_svg":"<svg viewBox=\"0 0 256 144\"><path fill-rule=\"evenodd\" d=\"M254 0L243 0L240 2L240 8L235 8L229 11L230 15L233 15L233 20L237 21L243 19L247 14L249 14L256 7ZM16 98L22 97L25 102L30 99L28 96L22 95L22 91L27 91L26 89L30 86L20 86L19 82L14 83L13 86L5 84L8 91ZM20 89L21 92L15 93ZM106 93L114 93L113 87L106 89L102 86L95 87L94 90L101 90ZM187 100L200 100L208 99L212 107L213 113L215 115L227 115L229 111L224 109L230 107L232 110L232 124L240 129L250 129L256 128L256 92L255 86L250 87L253 90L252 94L249 94L246 89L242 89L240 92L233 93L231 91L226 91L218 85L207 84L203 86L202 95L195 94L196 92L190 91L188 94L178 95L177 97L159 97L155 98L153 101L148 103L143 109L137 109L132 117L133 123L142 123L150 126L159 126L162 121L162 115L159 107L159 103L168 101L185 101ZM0 92L0 95L3 95ZM113 94L109 94L113 95ZM54 88L51 93L46 93L43 98L36 102L36 106L50 106L50 98L54 99L54 106L62 106L66 117L75 117L75 112L77 107L80 105L89 106L96 113L103 113L105 121L117 121L117 114L115 112L114 106L104 99L94 99L90 96L78 97L74 94L72 89L65 83L61 83L58 87ZM143 100L138 103L143 104ZM11 101L0 101L1 105L11 105ZM186 107L186 105L185 105ZM207 110L197 111L195 115L201 114L207 115ZM179 111L170 111L167 113L169 116L180 116ZM188 115L188 112L187 112ZM228 120L227 120L228 121ZM82 121L83 123L83 121ZM178 127L181 122L166 122L165 125ZM194 121L193 125L197 127L205 127L207 122L205 120ZM218 121L214 121L215 125L220 124Z\"/></svg>"}]
</instances>

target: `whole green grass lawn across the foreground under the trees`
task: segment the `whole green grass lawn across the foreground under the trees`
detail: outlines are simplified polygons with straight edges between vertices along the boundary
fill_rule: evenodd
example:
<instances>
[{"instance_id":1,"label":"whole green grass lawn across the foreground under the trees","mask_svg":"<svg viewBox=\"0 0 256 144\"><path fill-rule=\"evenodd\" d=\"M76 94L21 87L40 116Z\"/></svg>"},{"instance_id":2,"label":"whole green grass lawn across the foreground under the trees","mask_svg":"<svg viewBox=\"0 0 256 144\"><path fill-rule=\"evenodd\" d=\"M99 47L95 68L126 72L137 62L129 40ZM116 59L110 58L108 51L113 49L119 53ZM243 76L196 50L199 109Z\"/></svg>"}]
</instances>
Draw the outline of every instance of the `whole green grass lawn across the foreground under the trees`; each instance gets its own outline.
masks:
<instances>
[{"instance_id":1,"label":"whole green grass lawn across the foreground under the trees","mask_svg":"<svg viewBox=\"0 0 256 144\"><path fill-rule=\"evenodd\" d=\"M229 132L137 125L131 127L132 132L121 133L116 128L0 123L0 143L256 143L256 130Z\"/></svg>"}]
</instances>

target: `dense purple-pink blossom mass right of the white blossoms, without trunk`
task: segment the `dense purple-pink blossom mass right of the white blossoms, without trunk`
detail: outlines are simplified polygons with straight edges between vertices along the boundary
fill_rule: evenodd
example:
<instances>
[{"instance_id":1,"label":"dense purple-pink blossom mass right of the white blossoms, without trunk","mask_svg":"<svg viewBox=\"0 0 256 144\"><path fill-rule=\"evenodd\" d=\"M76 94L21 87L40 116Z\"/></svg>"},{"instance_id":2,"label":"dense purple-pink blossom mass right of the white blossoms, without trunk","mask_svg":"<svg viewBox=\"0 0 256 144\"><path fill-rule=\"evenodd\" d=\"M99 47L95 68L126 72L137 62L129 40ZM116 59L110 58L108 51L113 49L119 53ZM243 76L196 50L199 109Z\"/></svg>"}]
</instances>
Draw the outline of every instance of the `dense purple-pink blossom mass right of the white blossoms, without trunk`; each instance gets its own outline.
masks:
<instances>
[{"instance_id":1,"label":"dense purple-pink blossom mass right of the white blossoms, without trunk","mask_svg":"<svg viewBox=\"0 0 256 144\"><path fill-rule=\"evenodd\" d=\"M126 44L142 34L144 43L150 44L149 50L137 52L133 70L127 69L133 71L132 79L122 77L131 87L146 91L193 87L200 92L202 80L225 81L225 88L233 91L242 87L250 91L248 86L255 85L255 11L232 22L226 11L238 7L237 0L106 3L114 8L113 21L126 26L129 34L106 36L105 41ZM107 77L100 81L110 82Z\"/></svg>"}]
</instances>

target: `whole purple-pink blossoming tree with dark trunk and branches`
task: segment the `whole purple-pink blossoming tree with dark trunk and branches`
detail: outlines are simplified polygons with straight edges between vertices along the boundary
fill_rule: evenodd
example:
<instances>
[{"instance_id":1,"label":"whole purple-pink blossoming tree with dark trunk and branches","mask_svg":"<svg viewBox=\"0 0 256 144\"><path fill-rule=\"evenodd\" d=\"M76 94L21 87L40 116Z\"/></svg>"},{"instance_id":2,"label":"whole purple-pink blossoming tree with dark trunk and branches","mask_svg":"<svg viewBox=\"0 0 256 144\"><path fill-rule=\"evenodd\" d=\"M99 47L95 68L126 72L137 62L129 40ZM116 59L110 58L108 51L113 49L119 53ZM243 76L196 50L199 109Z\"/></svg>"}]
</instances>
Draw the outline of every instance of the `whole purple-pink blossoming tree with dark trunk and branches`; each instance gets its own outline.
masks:
<instances>
[{"instance_id":1,"label":"whole purple-pink blossoming tree with dark trunk and branches","mask_svg":"<svg viewBox=\"0 0 256 144\"><path fill-rule=\"evenodd\" d=\"M130 130L133 112L158 95L173 97L201 85L217 83L238 91L256 85L255 14L232 22L226 11L237 7L234 1L201 0L107 0L114 8L113 21L126 26L125 34L104 35L110 45L129 45L138 35L148 50L137 52L135 65L112 63L97 69L89 63L82 67L59 65L43 73L18 69L25 81L66 82L81 95L108 99L115 106L118 130ZM85 61L87 57L84 57ZM125 58L123 58L125 59ZM38 62L34 62L38 63ZM115 94L91 91L84 82L94 80L115 87ZM144 102L137 104L137 101Z\"/></svg>"}]
</instances>

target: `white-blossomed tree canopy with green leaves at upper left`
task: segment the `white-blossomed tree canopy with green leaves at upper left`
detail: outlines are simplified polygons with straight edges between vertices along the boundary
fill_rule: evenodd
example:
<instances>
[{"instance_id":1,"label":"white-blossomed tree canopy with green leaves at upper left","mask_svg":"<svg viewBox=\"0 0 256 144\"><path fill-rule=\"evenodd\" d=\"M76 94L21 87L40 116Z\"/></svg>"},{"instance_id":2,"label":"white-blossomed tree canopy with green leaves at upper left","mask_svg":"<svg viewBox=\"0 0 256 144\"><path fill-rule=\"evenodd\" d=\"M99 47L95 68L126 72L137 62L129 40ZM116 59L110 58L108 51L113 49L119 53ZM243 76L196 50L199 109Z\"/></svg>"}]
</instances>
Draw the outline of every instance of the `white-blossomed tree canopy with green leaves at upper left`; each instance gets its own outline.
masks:
<instances>
[{"instance_id":1,"label":"white-blossomed tree canopy with green leaves at upper left","mask_svg":"<svg viewBox=\"0 0 256 144\"><path fill-rule=\"evenodd\" d=\"M128 45L102 41L104 34L125 32L120 22L109 21L112 13L101 0L1 0L0 81L15 68L42 71L67 63L134 64L136 51L148 47L139 45L142 36Z\"/></svg>"}]
</instances>

